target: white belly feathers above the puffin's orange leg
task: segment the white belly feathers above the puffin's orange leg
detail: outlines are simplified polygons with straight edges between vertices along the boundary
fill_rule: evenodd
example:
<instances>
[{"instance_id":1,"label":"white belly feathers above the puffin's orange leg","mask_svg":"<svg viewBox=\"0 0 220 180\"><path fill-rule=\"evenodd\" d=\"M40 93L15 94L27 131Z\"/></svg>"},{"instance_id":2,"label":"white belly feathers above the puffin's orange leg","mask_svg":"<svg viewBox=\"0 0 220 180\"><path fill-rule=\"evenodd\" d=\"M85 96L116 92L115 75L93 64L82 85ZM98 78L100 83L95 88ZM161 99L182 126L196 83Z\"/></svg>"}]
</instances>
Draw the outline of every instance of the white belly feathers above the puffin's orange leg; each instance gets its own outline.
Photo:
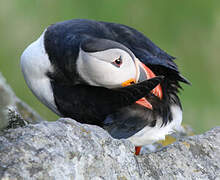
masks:
<instances>
[{"instance_id":1,"label":"white belly feathers above the puffin's orange leg","mask_svg":"<svg viewBox=\"0 0 220 180\"><path fill-rule=\"evenodd\" d=\"M171 113L173 115L173 121L166 126L162 126L162 119L158 119L155 127L146 126L141 131L137 132L128 140L130 140L135 146L143 146L152 144L158 140L164 140L165 136L178 131L181 128L182 122L182 110L179 106L171 106Z\"/></svg>"}]
</instances>

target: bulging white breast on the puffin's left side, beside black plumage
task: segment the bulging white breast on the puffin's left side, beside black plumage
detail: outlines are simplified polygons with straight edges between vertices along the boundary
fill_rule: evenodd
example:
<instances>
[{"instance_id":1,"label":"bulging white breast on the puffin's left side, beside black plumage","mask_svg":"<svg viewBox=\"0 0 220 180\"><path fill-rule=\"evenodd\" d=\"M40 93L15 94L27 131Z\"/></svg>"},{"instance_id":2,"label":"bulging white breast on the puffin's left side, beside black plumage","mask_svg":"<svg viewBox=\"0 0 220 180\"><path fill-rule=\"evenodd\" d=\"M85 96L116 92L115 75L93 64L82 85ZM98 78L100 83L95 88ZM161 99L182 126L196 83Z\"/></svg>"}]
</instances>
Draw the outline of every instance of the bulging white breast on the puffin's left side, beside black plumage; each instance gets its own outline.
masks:
<instances>
[{"instance_id":1,"label":"bulging white breast on the puffin's left side, beside black plumage","mask_svg":"<svg viewBox=\"0 0 220 180\"><path fill-rule=\"evenodd\" d=\"M44 33L29 45L21 56L21 69L24 79L35 96L52 111L57 111L50 79L46 75L52 72L52 66L44 48Z\"/></svg>"}]
</instances>

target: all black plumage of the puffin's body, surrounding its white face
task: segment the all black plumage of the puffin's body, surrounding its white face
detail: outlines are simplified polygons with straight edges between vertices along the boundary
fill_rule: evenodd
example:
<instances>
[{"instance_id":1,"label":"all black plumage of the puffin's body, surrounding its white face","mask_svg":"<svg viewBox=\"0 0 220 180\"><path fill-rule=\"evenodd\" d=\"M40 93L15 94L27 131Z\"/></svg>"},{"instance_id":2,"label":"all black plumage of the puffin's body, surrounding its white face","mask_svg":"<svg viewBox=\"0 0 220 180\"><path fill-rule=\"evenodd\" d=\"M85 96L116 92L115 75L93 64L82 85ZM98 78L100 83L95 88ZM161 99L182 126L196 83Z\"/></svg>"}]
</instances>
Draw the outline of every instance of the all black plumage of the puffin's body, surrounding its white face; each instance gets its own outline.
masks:
<instances>
[{"instance_id":1,"label":"all black plumage of the puffin's body, surrounding its white face","mask_svg":"<svg viewBox=\"0 0 220 180\"><path fill-rule=\"evenodd\" d=\"M103 44L102 40L107 40L103 41L106 44ZM180 74L174 57L133 28L93 20L69 20L48 27L44 44L55 69L54 72L47 72L47 75L51 80L57 108L64 117L100 125L116 138L127 138L145 126L155 126L157 116L162 117L163 125L166 125L172 121L170 105L176 104L181 107L177 96L181 87L179 82L189 84L189 81ZM118 89L89 86L76 70L80 48L87 52L96 52L115 46L128 53L131 51L157 76L164 76L164 80L159 77L151 80L152 82L143 82L145 86L141 88L138 84L121 88L124 89L123 93L129 94L129 101L123 99L125 96L120 94ZM150 93L158 83L161 83L163 90L162 100ZM134 94L131 93L132 88ZM132 104L138 97L143 96L152 104L153 110ZM119 100L120 98L123 100ZM129 111L133 110L136 113L129 114ZM105 121L109 114L113 118Z\"/></svg>"}]
</instances>

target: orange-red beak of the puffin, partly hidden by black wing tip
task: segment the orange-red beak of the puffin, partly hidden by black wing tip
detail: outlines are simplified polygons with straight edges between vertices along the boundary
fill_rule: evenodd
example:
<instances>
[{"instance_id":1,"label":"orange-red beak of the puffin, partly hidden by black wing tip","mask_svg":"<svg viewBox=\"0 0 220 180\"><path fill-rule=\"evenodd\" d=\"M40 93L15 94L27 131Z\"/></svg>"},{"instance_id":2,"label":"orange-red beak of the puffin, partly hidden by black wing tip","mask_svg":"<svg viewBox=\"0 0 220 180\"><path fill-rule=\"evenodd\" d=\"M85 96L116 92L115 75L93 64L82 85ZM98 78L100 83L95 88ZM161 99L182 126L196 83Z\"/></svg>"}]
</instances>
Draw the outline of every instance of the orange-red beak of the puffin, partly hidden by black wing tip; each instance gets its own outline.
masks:
<instances>
[{"instance_id":1,"label":"orange-red beak of the puffin, partly hidden by black wing tip","mask_svg":"<svg viewBox=\"0 0 220 180\"><path fill-rule=\"evenodd\" d=\"M139 68L142 68L146 74L146 77L147 79L151 79L151 78L154 78L156 77L156 75L151 71L150 68L148 68L145 64L143 64L142 62L140 62L139 60L136 61L137 63L137 66L139 66ZM137 72L139 73L139 71ZM138 75L139 77L139 75ZM137 83L137 80L136 79L129 79L125 82L122 83L122 86L125 87L125 86L129 86L131 84L135 84ZM163 97L163 93L162 93L162 88L161 88L161 85L157 85L153 90L152 90L152 93L157 96L158 98L162 99ZM138 101L136 101L137 104L141 105L141 106L144 106L148 109L153 109L152 105L150 104L150 102L148 102L148 100L143 97L141 99L139 99Z\"/></svg>"}]
</instances>

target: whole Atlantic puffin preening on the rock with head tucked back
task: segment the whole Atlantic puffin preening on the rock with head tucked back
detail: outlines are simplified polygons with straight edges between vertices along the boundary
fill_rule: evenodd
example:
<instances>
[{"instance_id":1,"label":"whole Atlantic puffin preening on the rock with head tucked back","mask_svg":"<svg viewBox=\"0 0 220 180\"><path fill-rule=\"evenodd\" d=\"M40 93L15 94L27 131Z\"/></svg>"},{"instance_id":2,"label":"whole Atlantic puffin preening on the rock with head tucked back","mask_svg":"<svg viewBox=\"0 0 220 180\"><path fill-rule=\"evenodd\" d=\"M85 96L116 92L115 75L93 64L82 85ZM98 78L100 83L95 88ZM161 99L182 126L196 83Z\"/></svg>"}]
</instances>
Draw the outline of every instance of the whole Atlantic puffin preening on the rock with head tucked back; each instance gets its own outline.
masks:
<instances>
[{"instance_id":1,"label":"whole Atlantic puffin preening on the rock with head tucked back","mask_svg":"<svg viewBox=\"0 0 220 180\"><path fill-rule=\"evenodd\" d=\"M128 139L139 154L181 126L177 93L190 82L174 59L131 27L73 19L46 28L23 52L21 69L53 112Z\"/></svg>"}]
</instances>

